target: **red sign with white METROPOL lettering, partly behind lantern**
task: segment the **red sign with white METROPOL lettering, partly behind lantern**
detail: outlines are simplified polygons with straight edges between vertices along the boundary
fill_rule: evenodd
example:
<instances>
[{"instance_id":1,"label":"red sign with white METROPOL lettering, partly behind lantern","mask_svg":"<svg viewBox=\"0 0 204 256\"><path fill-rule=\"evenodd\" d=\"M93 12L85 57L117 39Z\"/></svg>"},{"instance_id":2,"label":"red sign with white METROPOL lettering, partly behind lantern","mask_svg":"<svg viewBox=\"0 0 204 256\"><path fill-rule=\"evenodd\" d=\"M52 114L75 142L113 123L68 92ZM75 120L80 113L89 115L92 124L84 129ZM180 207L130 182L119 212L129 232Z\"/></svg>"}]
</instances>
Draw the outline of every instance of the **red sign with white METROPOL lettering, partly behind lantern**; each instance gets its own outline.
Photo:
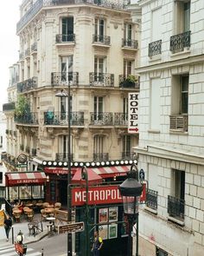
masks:
<instances>
[{"instance_id":1,"label":"red sign with white METROPOL lettering, partly behind lantern","mask_svg":"<svg viewBox=\"0 0 204 256\"><path fill-rule=\"evenodd\" d=\"M140 201L146 200L146 184L143 184L143 194ZM101 186L88 188L88 205L122 203L118 186ZM83 206L86 204L86 188L72 188L72 206Z\"/></svg>"}]
</instances>

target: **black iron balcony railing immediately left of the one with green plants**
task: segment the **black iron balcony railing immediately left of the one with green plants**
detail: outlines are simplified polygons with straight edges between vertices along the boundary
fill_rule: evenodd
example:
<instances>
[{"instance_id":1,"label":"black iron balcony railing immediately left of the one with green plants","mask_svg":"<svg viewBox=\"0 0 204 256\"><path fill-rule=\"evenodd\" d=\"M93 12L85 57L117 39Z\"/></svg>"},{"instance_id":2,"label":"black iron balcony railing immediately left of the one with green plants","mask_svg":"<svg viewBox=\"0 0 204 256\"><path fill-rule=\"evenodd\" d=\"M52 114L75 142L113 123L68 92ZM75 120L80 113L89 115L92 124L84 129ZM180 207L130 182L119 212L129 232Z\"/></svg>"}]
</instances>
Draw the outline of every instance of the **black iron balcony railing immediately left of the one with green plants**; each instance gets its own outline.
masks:
<instances>
[{"instance_id":1,"label":"black iron balcony railing immediately left of the one with green plants","mask_svg":"<svg viewBox=\"0 0 204 256\"><path fill-rule=\"evenodd\" d=\"M103 86L113 87L114 86L114 75L107 73L89 73L90 86Z\"/></svg>"}]
</instances>

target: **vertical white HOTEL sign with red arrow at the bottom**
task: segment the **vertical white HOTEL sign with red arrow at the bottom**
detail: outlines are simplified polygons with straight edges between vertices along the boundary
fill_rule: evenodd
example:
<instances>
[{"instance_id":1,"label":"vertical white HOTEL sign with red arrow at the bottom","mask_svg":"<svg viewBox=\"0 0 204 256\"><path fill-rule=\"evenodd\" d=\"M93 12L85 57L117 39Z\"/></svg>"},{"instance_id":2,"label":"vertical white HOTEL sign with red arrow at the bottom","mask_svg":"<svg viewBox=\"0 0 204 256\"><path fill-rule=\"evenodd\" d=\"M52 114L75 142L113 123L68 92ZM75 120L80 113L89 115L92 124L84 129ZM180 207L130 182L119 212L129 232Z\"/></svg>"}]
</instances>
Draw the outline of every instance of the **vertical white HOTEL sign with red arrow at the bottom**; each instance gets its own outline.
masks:
<instances>
[{"instance_id":1,"label":"vertical white HOTEL sign with red arrow at the bottom","mask_svg":"<svg viewBox=\"0 0 204 256\"><path fill-rule=\"evenodd\" d=\"M128 133L138 134L138 93L129 93L128 108Z\"/></svg>"}]
</instances>

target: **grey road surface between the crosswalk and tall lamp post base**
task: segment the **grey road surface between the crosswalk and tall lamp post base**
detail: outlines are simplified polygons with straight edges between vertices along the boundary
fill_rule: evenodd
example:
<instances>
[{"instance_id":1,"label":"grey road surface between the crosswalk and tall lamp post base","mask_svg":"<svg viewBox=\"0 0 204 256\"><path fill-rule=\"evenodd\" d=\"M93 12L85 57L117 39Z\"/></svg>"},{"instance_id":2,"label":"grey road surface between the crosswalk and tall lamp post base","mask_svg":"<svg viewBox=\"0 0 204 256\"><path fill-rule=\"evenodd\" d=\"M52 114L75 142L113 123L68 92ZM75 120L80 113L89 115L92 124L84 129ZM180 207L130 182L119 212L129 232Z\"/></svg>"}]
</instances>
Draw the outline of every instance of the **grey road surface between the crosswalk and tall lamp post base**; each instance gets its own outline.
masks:
<instances>
[{"instance_id":1,"label":"grey road surface between the crosswalk and tall lamp post base","mask_svg":"<svg viewBox=\"0 0 204 256\"><path fill-rule=\"evenodd\" d=\"M41 241L28 245L36 252L41 252L43 248L43 256L62 256L67 253L67 234L54 235L46 237Z\"/></svg>"}]
</instances>

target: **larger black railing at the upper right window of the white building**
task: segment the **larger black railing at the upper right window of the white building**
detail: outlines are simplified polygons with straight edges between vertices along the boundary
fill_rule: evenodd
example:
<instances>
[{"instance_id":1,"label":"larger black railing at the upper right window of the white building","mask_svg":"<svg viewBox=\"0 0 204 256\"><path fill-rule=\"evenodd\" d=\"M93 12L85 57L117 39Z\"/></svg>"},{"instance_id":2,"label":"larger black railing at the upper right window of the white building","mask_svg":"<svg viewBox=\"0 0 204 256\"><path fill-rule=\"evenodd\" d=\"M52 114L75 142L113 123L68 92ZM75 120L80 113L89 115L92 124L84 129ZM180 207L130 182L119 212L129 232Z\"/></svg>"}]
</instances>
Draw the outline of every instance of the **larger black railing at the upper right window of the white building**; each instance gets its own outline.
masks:
<instances>
[{"instance_id":1,"label":"larger black railing at the upper right window of the white building","mask_svg":"<svg viewBox=\"0 0 204 256\"><path fill-rule=\"evenodd\" d=\"M186 47L190 47L191 31L184 32L175 36L170 36L170 50L182 51Z\"/></svg>"}]
</instances>

